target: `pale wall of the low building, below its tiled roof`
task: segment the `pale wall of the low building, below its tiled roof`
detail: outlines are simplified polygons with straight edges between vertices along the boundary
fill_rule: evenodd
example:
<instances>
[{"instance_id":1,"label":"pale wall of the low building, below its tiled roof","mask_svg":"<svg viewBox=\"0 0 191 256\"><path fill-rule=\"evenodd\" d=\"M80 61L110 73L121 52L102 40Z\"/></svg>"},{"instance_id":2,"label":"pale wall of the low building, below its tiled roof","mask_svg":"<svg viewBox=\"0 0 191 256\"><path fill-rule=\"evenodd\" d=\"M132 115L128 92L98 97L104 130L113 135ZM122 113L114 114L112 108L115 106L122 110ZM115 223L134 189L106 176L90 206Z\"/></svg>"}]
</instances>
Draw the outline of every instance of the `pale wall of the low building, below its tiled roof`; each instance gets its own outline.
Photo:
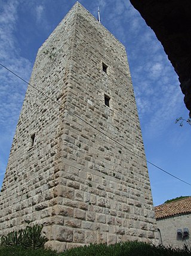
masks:
<instances>
[{"instance_id":1,"label":"pale wall of the low building, below its tiled roof","mask_svg":"<svg viewBox=\"0 0 191 256\"><path fill-rule=\"evenodd\" d=\"M183 247L184 244L191 246L190 236L177 235L177 230L188 228L191 231L191 215L179 215L165 219L158 219L156 225L161 231L162 245Z\"/></svg>"}]
</instances>

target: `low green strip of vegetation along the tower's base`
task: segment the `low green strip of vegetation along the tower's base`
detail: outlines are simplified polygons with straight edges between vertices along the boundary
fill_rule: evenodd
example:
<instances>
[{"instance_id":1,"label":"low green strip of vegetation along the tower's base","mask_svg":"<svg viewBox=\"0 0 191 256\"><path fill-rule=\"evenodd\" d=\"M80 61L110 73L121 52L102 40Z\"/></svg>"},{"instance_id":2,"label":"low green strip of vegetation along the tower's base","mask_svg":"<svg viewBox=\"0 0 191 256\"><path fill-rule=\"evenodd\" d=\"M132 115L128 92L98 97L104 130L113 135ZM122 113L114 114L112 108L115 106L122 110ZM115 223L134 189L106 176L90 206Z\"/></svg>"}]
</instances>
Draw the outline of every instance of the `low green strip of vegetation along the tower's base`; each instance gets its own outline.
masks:
<instances>
[{"instance_id":1,"label":"low green strip of vegetation along the tower's base","mask_svg":"<svg viewBox=\"0 0 191 256\"><path fill-rule=\"evenodd\" d=\"M124 242L115 245L88 245L57 253L50 249L24 249L20 246L0 246L0 256L187 256L191 251L155 246L143 242Z\"/></svg>"}]
</instances>

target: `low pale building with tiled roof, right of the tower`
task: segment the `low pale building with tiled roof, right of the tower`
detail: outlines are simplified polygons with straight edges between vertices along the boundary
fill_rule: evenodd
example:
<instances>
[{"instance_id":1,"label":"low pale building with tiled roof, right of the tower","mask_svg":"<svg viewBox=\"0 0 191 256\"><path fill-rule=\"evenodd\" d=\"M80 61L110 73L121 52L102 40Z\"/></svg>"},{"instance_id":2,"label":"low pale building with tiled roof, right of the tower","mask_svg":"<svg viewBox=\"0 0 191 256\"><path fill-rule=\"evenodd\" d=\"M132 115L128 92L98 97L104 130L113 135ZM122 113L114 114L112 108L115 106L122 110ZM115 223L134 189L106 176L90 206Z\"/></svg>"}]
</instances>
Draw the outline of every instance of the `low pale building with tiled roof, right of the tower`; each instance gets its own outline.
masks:
<instances>
[{"instance_id":1,"label":"low pale building with tiled roof, right of the tower","mask_svg":"<svg viewBox=\"0 0 191 256\"><path fill-rule=\"evenodd\" d=\"M155 207L159 242L164 246L191 247L191 197Z\"/></svg>"}]
</instances>

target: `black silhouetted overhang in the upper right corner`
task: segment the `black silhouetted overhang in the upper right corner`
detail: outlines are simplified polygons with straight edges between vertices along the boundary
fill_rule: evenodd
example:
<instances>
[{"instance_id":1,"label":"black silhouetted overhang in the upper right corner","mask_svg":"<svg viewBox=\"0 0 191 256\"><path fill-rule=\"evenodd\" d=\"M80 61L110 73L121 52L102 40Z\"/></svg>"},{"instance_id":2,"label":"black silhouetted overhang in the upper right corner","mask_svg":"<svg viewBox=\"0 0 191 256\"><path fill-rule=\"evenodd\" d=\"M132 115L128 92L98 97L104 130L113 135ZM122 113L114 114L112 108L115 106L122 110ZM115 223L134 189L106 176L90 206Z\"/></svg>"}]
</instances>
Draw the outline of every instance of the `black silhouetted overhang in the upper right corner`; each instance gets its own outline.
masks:
<instances>
[{"instance_id":1,"label":"black silhouetted overhang in the upper right corner","mask_svg":"<svg viewBox=\"0 0 191 256\"><path fill-rule=\"evenodd\" d=\"M130 0L161 41L191 113L191 1ZM191 114L190 114L191 117Z\"/></svg>"}]
</instances>

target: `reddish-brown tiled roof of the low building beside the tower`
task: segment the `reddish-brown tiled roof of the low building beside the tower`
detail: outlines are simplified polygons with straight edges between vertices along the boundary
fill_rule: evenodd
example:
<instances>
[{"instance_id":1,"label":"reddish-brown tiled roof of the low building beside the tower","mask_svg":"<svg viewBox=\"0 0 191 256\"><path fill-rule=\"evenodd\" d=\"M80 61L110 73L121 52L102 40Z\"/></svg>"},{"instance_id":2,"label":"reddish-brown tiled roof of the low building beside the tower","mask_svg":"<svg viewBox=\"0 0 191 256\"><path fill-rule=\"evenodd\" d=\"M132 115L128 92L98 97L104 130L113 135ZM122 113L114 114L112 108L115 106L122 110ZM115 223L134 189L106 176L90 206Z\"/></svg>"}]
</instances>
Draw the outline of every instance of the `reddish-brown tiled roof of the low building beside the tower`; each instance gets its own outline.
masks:
<instances>
[{"instance_id":1,"label":"reddish-brown tiled roof of the low building beside the tower","mask_svg":"<svg viewBox=\"0 0 191 256\"><path fill-rule=\"evenodd\" d=\"M155 207L156 219L168 218L174 215L191 213L191 197L186 197Z\"/></svg>"}]
</instances>

